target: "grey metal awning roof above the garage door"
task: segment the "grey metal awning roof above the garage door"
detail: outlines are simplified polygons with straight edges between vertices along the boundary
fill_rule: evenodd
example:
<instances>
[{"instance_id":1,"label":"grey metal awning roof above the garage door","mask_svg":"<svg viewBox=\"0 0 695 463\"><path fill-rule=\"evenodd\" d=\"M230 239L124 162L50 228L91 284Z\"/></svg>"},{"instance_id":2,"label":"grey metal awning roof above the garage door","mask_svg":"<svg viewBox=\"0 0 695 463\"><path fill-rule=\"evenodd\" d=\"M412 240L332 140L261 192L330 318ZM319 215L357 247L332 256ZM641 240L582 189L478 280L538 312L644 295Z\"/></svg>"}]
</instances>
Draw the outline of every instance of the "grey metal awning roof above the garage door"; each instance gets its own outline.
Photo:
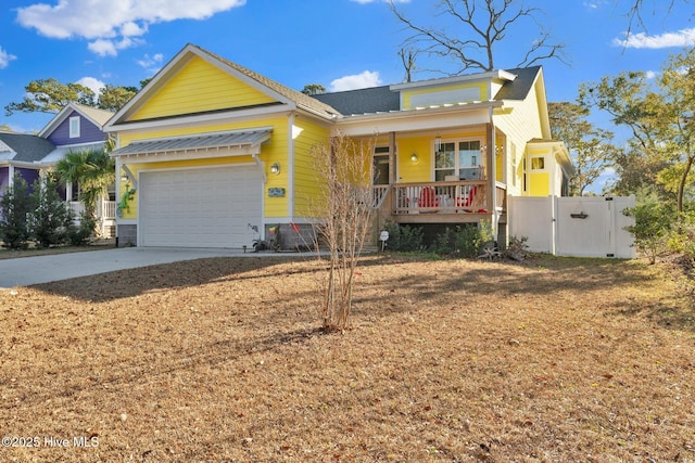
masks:
<instances>
[{"instance_id":1,"label":"grey metal awning roof above the garage door","mask_svg":"<svg viewBox=\"0 0 695 463\"><path fill-rule=\"evenodd\" d=\"M271 129L262 129L139 140L114 150L111 155L126 162L150 157L154 159L149 160L164 160L163 158L256 155L261 152L261 144L268 141L270 134Z\"/></svg>"}]
</instances>

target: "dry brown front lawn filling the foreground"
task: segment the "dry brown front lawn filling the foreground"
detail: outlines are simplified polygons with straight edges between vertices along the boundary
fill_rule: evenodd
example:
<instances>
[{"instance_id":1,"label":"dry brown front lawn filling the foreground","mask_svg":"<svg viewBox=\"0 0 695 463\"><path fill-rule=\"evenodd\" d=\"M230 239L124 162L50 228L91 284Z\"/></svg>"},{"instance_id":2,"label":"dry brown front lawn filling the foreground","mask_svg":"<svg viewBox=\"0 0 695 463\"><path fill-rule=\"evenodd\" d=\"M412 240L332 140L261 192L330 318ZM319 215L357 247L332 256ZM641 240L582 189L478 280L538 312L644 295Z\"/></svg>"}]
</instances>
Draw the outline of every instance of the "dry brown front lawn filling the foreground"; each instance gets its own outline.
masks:
<instances>
[{"instance_id":1,"label":"dry brown front lawn filling the foreground","mask_svg":"<svg viewBox=\"0 0 695 463\"><path fill-rule=\"evenodd\" d=\"M695 461L695 299L671 267L369 257L343 334L318 330L319 267L0 290L0 434L38 445L0 461Z\"/></svg>"}]
</instances>

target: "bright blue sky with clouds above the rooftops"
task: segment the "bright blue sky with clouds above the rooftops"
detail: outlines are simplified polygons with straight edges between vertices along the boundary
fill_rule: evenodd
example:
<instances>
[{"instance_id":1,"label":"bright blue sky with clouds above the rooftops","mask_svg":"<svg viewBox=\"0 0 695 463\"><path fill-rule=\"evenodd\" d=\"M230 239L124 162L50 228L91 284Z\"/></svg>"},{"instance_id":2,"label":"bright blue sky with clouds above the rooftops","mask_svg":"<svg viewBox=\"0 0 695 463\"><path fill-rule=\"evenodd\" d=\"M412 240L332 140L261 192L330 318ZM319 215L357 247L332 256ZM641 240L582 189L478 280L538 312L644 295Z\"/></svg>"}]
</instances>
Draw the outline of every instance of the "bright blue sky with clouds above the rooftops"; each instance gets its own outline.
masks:
<instances>
[{"instance_id":1,"label":"bright blue sky with clouds above the rooftops","mask_svg":"<svg viewBox=\"0 0 695 463\"><path fill-rule=\"evenodd\" d=\"M545 28L566 61L544 62L549 101L571 101L580 82L620 70L656 73L695 40L693 0L644 0L646 30L626 43L629 0L527 0L541 11L518 23L497 51L515 67ZM401 0L424 25L444 24L439 0ZM186 43L201 46L301 90L342 90L403 81L397 56L407 33L384 0L3 0L0 7L0 125L38 131L50 115L4 115L30 80L55 77L90 87L139 86ZM536 24L538 23L538 24ZM447 63L419 56L414 79L441 77Z\"/></svg>"}]
</instances>

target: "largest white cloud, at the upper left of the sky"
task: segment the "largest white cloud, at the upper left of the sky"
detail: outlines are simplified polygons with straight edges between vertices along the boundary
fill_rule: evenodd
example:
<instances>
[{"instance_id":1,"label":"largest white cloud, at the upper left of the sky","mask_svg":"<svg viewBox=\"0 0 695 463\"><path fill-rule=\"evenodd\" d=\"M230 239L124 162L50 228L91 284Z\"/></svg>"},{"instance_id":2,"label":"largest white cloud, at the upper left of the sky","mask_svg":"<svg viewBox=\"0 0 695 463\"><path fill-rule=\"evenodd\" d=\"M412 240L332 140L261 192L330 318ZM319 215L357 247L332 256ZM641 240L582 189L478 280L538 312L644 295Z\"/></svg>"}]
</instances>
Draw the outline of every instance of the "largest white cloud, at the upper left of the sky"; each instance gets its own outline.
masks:
<instances>
[{"instance_id":1,"label":"largest white cloud, at the upper left of the sky","mask_svg":"<svg viewBox=\"0 0 695 463\"><path fill-rule=\"evenodd\" d=\"M89 50L116 55L119 50L143 42L137 39L150 24L176 20L205 20L245 4L247 0L58 0L58 4L35 3L17 9L17 22L39 34L91 40Z\"/></svg>"}]
</instances>

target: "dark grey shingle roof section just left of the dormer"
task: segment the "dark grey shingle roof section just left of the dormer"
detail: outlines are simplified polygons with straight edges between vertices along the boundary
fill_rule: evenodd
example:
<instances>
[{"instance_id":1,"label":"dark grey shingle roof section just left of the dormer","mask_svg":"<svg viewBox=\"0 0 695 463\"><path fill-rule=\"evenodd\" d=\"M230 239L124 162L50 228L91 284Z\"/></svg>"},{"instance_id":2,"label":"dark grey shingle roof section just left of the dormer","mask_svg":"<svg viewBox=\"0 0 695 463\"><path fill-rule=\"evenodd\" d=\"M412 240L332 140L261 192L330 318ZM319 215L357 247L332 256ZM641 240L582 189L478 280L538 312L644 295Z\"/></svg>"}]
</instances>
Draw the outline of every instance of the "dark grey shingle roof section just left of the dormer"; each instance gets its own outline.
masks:
<instances>
[{"instance_id":1,"label":"dark grey shingle roof section just left of the dormer","mask_svg":"<svg viewBox=\"0 0 695 463\"><path fill-rule=\"evenodd\" d=\"M391 90L390 86L321 93L313 98L331 105L343 115L384 113L401 108L401 95Z\"/></svg>"}]
</instances>

